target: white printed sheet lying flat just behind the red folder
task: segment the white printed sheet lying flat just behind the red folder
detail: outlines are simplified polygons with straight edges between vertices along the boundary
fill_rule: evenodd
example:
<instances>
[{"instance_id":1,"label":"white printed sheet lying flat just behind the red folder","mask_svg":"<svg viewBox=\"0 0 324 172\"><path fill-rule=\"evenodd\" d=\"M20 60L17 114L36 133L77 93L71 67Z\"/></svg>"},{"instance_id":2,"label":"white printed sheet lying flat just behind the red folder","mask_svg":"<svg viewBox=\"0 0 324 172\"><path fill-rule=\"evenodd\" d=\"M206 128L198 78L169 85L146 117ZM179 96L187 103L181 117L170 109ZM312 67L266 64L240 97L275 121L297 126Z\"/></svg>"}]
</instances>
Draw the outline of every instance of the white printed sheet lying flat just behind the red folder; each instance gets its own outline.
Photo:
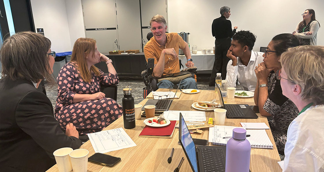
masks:
<instances>
[{"instance_id":1,"label":"white printed sheet lying flat just behind the red folder","mask_svg":"<svg viewBox=\"0 0 324 172\"><path fill-rule=\"evenodd\" d=\"M163 115L168 120L179 121L180 112L185 121L206 121L206 113L203 111L169 110L169 111L165 111Z\"/></svg>"}]
</instances>

